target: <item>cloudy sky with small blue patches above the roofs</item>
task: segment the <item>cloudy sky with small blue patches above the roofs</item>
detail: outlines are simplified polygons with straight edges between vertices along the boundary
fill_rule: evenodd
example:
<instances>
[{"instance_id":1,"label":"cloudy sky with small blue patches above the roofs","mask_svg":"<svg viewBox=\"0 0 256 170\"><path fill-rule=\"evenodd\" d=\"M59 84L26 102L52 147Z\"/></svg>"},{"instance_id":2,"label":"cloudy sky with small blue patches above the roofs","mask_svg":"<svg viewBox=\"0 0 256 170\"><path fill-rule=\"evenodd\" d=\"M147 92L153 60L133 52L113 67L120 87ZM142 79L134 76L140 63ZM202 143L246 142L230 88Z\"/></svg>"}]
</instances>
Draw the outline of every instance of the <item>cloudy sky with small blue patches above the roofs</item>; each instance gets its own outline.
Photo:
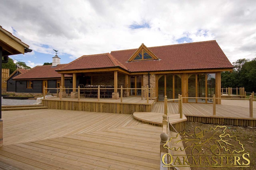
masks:
<instances>
[{"instance_id":1,"label":"cloudy sky with small blue patches above the roofs","mask_svg":"<svg viewBox=\"0 0 256 170\"><path fill-rule=\"evenodd\" d=\"M256 57L256 1L2 0L0 25L34 67L113 50L216 40L230 62Z\"/></svg>"}]
</instances>

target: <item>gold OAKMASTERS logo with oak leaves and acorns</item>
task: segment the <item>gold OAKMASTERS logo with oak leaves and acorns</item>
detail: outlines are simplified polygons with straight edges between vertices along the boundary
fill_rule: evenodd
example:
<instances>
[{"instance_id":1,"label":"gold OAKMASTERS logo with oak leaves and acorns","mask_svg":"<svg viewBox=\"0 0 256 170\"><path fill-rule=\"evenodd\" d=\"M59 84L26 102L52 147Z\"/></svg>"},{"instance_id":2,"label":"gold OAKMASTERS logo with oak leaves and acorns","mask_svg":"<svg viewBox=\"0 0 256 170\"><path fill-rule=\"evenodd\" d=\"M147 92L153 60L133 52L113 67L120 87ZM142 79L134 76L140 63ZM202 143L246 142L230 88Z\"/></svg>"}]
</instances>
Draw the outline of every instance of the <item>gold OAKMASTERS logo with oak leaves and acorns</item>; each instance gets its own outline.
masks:
<instances>
[{"instance_id":1,"label":"gold OAKMASTERS logo with oak leaves and acorns","mask_svg":"<svg viewBox=\"0 0 256 170\"><path fill-rule=\"evenodd\" d=\"M170 138L163 147L172 150L172 154L162 156L163 167L249 167L250 154L243 153L243 144L236 136L226 134L226 129L226 126L209 130L195 127L192 135L185 132ZM184 149L175 147L179 142L183 142ZM184 150L186 155L175 152Z\"/></svg>"}]
</instances>

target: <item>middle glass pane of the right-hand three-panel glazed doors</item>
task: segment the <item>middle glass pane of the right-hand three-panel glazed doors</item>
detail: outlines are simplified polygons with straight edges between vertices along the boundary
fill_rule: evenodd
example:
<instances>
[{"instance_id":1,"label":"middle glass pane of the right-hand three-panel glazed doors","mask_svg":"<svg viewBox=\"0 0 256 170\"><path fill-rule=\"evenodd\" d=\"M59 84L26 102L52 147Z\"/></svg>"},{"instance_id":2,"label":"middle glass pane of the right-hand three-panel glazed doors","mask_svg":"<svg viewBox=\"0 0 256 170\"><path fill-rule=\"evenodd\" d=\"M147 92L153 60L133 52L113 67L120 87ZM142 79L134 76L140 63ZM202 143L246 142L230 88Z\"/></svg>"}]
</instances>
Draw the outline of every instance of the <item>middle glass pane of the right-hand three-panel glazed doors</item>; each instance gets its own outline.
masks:
<instances>
[{"instance_id":1,"label":"middle glass pane of the right-hand three-panel glazed doors","mask_svg":"<svg viewBox=\"0 0 256 170\"><path fill-rule=\"evenodd\" d=\"M197 97L205 97L205 73L197 75ZM198 103L205 103L205 99L198 99Z\"/></svg>"}]
</instances>

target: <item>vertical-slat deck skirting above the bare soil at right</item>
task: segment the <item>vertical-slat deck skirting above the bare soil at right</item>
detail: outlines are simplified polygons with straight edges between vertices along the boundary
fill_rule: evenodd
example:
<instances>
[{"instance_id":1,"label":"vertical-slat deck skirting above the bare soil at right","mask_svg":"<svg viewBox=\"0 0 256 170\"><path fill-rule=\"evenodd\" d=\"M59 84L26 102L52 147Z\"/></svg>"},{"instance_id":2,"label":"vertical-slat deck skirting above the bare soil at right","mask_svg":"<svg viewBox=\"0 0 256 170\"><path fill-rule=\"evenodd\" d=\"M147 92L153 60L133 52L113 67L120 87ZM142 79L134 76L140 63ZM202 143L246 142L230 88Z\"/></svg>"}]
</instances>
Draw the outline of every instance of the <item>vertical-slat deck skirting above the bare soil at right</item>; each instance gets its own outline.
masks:
<instances>
[{"instance_id":1,"label":"vertical-slat deck skirting above the bare soil at right","mask_svg":"<svg viewBox=\"0 0 256 170\"><path fill-rule=\"evenodd\" d=\"M195 115L186 115L186 117L187 117L187 121L189 122L256 127L256 120L253 120L253 119L205 117L205 116L195 116Z\"/></svg>"}]
</instances>

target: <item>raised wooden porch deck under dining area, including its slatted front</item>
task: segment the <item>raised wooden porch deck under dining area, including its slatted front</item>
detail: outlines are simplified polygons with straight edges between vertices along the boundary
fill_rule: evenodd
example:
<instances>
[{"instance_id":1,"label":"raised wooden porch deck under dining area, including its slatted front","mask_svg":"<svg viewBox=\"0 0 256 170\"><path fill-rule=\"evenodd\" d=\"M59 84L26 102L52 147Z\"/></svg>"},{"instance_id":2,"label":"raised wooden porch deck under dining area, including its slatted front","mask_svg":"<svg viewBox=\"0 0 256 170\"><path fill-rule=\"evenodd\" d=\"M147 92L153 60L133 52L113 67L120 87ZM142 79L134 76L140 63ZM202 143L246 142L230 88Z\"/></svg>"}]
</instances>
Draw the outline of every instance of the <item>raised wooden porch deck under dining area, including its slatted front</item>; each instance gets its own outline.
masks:
<instances>
[{"instance_id":1,"label":"raised wooden porch deck under dining area, including its slatted front","mask_svg":"<svg viewBox=\"0 0 256 170\"><path fill-rule=\"evenodd\" d=\"M123 97L123 102L115 99L100 99L82 98L80 101L74 98L51 98L42 100L42 104L49 109L65 109L76 111L91 111L105 113L123 113L133 114L134 112L150 112L155 101L146 99L141 100L141 97Z\"/></svg>"}]
</instances>

